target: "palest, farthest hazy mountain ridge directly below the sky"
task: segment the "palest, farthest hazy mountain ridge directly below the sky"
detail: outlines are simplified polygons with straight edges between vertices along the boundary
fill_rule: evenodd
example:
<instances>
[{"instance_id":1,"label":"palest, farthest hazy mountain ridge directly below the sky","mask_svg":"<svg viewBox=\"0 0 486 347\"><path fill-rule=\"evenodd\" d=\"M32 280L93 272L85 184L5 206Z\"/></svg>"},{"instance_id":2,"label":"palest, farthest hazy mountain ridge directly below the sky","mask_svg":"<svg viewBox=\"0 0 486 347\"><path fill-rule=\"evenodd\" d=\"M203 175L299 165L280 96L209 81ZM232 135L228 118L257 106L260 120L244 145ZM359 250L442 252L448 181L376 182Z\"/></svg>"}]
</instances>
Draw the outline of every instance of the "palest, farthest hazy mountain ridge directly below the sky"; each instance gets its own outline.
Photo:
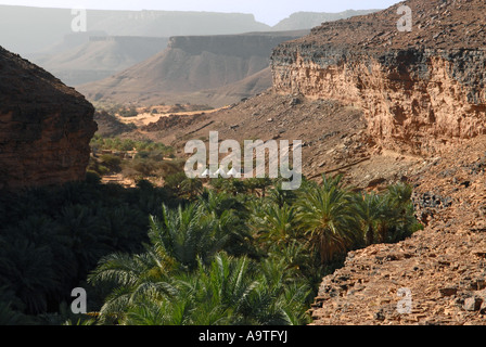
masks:
<instances>
[{"instance_id":1,"label":"palest, farthest hazy mountain ridge directly below the sky","mask_svg":"<svg viewBox=\"0 0 486 347\"><path fill-rule=\"evenodd\" d=\"M369 11L300 12L271 27L245 13L87 10L87 30L108 36L232 35L310 29L323 22L364 13ZM74 34L76 15L71 9L0 5L0 46L22 55L44 50Z\"/></svg>"}]
</instances>

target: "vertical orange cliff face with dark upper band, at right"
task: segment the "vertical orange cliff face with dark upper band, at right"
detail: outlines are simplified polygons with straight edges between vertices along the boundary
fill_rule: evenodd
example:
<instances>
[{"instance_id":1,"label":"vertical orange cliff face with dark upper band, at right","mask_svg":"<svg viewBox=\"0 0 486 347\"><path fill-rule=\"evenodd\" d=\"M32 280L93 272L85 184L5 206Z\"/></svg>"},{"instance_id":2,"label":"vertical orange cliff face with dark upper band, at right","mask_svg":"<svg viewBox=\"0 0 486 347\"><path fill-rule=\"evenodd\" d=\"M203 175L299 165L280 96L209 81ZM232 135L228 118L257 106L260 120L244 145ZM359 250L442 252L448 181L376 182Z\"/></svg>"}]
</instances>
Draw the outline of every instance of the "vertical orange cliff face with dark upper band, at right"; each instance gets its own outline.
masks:
<instances>
[{"instance_id":1,"label":"vertical orange cliff face with dark upper band, at right","mask_svg":"<svg viewBox=\"0 0 486 347\"><path fill-rule=\"evenodd\" d=\"M274 52L274 89L361 107L385 147L434 154L486 133L485 50L291 49Z\"/></svg>"}]
</instances>

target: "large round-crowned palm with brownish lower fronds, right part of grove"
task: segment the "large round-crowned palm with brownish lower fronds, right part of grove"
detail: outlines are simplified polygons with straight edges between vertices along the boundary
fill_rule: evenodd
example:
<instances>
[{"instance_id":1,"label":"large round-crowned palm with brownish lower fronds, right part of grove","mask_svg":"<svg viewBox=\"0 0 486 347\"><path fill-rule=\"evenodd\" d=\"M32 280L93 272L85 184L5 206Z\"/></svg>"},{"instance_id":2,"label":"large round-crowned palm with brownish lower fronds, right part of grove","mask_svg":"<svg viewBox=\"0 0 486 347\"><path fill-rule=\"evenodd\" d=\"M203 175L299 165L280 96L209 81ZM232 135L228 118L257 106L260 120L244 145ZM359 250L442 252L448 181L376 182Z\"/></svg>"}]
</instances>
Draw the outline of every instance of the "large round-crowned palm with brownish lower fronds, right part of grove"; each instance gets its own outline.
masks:
<instances>
[{"instance_id":1,"label":"large round-crowned palm with brownish lower fronds, right part of grove","mask_svg":"<svg viewBox=\"0 0 486 347\"><path fill-rule=\"evenodd\" d=\"M350 194L340 176L324 176L322 185L306 189L299 198L299 221L318 247L322 264L333 260L357 239L359 228L350 205Z\"/></svg>"}]
</instances>

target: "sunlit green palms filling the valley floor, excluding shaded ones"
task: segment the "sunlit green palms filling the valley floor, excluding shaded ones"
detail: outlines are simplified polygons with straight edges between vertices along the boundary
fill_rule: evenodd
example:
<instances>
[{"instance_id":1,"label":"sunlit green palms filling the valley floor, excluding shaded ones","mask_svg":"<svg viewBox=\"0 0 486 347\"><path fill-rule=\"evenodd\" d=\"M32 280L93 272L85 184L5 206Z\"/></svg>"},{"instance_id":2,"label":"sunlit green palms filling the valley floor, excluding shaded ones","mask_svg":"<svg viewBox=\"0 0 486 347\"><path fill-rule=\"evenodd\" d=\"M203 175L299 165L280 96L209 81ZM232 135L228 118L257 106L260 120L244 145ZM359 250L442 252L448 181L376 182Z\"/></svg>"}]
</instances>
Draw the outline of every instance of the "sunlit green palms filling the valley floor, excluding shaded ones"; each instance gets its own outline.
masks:
<instances>
[{"instance_id":1,"label":"sunlit green palms filling the valley floor, excluding shaded ones","mask_svg":"<svg viewBox=\"0 0 486 347\"><path fill-rule=\"evenodd\" d=\"M298 191L239 182L163 206L144 252L104 257L88 279L105 295L97 322L306 324L322 275L348 250L420 228L405 184L376 194L353 192L341 177Z\"/></svg>"}]
</instances>

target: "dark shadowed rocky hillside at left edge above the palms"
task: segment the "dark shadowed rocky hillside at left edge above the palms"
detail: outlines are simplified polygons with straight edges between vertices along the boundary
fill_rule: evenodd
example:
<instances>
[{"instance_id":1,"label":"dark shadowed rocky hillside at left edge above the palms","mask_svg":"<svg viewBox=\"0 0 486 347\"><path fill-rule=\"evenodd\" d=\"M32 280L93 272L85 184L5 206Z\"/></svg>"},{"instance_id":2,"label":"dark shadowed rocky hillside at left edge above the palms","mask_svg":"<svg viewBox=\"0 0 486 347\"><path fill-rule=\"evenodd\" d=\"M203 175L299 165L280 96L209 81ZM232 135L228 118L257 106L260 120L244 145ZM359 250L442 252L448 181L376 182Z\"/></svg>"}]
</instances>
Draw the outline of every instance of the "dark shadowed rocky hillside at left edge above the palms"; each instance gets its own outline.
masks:
<instances>
[{"instance_id":1,"label":"dark shadowed rocky hillside at left edge above the palms","mask_svg":"<svg viewBox=\"0 0 486 347\"><path fill-rule=\"evenodd\" d=\"M0 47L0 190L85 179L94 107Z\"/></svg>"}]
</instances>

